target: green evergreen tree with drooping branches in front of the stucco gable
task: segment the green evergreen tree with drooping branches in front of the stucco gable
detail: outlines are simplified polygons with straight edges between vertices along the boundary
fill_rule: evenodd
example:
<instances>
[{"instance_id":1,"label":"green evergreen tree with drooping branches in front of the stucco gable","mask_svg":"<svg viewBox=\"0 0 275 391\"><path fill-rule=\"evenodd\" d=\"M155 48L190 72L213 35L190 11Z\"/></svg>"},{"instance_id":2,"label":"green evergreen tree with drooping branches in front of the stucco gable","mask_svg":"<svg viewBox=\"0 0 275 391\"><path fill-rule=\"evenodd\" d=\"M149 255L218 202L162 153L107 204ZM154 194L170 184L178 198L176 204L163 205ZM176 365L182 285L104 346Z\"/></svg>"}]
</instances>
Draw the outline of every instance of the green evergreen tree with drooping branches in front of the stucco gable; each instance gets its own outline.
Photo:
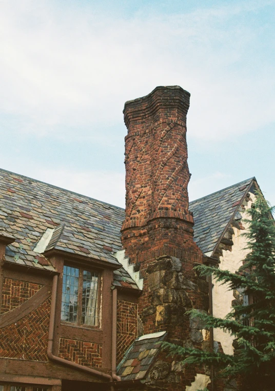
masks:
<instances>
[{"instance_id":1,"label":"green evergreen tree with drooping branches in front of the stucco gable","mask_svg":"<svg viewBox=\"0 0 275 391\"><path fill-rule=\"evenodd\" d=\"M244 220L249 227L248 255L236 273L213 266L200 265L197 271L212 274L218 283L227 284L250 298L248 305L233 305L224 318L215 318L196 310L206 328L221 328L235 337L234 355L214 351L184 348L164 343L170 355L181 355L184 364L213 365L216 376L224 379L241 379L241 390L275 390L275 225L273 208L258 192L256 202L247 210L250 218Z\"/></svg>"}]
</instances>

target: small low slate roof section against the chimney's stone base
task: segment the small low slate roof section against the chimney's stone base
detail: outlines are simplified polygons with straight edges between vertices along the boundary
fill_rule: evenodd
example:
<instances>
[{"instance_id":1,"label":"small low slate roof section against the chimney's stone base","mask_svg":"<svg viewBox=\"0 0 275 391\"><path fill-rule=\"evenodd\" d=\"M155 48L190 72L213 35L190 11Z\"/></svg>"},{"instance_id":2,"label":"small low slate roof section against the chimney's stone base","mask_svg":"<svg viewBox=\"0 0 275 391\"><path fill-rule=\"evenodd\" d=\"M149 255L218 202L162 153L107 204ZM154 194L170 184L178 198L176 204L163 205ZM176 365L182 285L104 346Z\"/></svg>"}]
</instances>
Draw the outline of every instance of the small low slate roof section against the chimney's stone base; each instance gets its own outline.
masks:
<instances>
[{"instance_id":1,"label":"small low slate roof section against the chimney's stone base","mask_svg":"<svg viewBox=\"0 0 275 391\"><path fill-rule=\"evenodd\" d=\"M116 368L121 380L142 380L148 374L156 356L160 352L166 332L143 335L129 347L124 358Z\"/></svg>"}]
</instances>

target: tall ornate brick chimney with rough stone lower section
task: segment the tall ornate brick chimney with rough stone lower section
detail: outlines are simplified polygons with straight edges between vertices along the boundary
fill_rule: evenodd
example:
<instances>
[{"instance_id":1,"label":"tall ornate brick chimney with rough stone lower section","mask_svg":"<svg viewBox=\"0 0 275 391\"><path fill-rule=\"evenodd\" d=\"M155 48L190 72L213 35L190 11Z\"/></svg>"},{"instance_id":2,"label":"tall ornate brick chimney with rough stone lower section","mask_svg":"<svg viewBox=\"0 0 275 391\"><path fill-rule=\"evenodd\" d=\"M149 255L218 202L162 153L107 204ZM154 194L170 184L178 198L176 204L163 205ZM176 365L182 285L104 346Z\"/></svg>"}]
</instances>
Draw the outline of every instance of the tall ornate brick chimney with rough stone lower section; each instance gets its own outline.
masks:
<instances>
[{"instance_id":1,"label":"tall ornate brick chimney with rough stone lower section","mask_svg":"<svg viewBox=\"0 0 275 391\"><path fill-rule=\"evenodd\" d=\"M139 299L143 333L166 330L169 340L180 344L191 338L185 312L207 309L192 270L203 254L193 241L188 211L189 98L179 86L156 87L124 108L126 217L121 232L129 263L144 279Z\"/></svg>"}]
</instances>

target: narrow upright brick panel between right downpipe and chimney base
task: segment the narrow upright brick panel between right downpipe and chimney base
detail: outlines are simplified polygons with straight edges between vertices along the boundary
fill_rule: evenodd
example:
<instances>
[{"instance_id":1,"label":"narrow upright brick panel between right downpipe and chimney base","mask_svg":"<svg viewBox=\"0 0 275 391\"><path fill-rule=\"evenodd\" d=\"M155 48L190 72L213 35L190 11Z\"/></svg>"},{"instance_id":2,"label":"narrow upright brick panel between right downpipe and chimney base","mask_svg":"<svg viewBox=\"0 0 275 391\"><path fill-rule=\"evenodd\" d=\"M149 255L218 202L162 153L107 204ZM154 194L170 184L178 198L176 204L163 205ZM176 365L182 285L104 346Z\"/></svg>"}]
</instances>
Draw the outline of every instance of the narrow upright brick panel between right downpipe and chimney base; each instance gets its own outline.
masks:
<instances>
[{"instance_id":1,"label":"narrow upright brick panel between right downpipe and chimney base","mask_svg":"<svg viewBox=\"0 0 275 391\"><path fill-rule=\"evenodd\" d=\"M138 305L129 301L117 301L116 361L119 363L127 348L137 336Z\"/></svg>"}]
</instances>

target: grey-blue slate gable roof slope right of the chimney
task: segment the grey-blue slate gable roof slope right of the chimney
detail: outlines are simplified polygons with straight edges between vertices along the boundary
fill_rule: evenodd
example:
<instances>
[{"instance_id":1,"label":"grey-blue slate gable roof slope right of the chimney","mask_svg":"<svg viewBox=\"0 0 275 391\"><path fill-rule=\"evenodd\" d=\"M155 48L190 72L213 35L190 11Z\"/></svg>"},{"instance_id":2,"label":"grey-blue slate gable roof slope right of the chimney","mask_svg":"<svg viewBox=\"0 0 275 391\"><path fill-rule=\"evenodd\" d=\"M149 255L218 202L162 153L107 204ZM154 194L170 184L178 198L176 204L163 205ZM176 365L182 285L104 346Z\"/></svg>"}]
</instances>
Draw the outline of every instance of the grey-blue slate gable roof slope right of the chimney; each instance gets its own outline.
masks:
<instances>
[{"instance_id":1,"label":"grey-blue slate gable roof slope right of the chimney","mask_svg":"<svg viewBox=\"0 0 275 391\"><path fill-rule=\"evenodd\" d=\"M189 203L189 210L194 216L194 241L203 253L214 250L254 180L254 177L246 179Z\"/></svg>"}]
</instances>

